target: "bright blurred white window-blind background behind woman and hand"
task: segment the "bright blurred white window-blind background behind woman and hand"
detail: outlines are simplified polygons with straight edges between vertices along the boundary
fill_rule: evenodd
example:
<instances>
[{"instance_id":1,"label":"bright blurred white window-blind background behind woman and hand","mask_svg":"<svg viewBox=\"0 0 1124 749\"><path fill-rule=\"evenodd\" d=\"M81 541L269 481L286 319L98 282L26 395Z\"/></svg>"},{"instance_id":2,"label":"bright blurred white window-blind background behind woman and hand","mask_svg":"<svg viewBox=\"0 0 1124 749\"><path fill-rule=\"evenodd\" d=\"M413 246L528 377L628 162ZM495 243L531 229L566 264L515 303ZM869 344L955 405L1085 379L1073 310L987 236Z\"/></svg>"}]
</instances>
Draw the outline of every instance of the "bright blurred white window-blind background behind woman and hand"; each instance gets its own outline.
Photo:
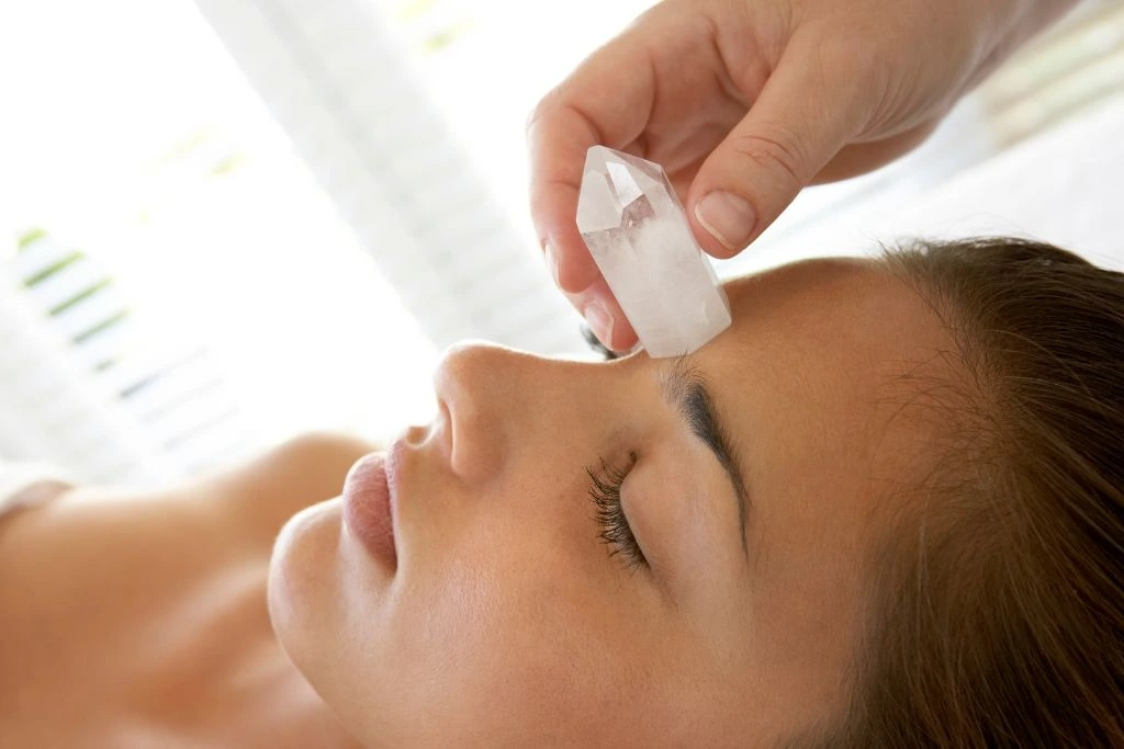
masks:
<instances>
[{"instance_id":1,"label":"bright blurred white window-blind background behind woman and hand","mask_svg":"<svg viewBox=\"0 0 1124 749\"><path fill-rule=\"evenodd\" d=\"M395 435L463 338L581 353L523 128L650 4L0 6L0 457L164 481L310 429ZM1124 3L1086 0L917 152L806 191L719 273L846 249L1122 97Z\"/></svg>"}]
</instances>

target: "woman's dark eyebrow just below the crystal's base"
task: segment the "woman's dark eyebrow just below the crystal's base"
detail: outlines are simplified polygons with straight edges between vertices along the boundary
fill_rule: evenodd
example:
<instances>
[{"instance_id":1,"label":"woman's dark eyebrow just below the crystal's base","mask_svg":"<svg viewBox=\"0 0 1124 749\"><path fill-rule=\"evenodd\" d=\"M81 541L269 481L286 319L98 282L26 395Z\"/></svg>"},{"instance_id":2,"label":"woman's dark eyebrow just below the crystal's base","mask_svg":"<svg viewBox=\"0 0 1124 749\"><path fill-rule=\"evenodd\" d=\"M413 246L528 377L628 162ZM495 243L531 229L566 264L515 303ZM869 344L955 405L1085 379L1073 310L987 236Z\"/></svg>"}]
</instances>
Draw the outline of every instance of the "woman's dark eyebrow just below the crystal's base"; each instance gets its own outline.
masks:
<instances>
[{"instance_id":1,"label":"woman's dark eyebrow just below the crystal's base","mask_svg":"<svg viewBox=\"0 0 1124 749\"><path fill-rule=\"evenodd\" d=\"M714 405L714 396L703 372L694 366L687 356L676 360L674 366L663 377L663 394L668 403L679 411L691 433L710 448L718 465L726 472L734 497L737 502L738 530L742 550L749 556L745 542L745 517L750 504L745 490L745 475L736 453L731 449L731 440Z\"/></svg>"}]
</instances>

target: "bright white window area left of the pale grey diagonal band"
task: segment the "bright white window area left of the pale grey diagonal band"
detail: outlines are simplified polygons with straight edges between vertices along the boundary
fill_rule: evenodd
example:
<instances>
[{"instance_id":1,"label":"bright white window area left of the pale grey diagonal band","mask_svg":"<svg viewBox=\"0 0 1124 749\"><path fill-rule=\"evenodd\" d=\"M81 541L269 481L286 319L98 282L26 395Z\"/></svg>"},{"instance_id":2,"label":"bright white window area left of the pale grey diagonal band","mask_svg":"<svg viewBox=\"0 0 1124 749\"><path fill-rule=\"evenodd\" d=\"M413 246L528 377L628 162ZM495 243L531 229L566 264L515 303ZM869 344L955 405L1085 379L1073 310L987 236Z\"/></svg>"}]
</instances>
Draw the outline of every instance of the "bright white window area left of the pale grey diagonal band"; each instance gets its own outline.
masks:
<instances>
[{"instance_id":1,"label":"bright white window area left of the pale grey diagonal band","mask_svg":"<svg viewBox=\"0 0 1124 749\"><path fill-rule=\"evenodd\" d=\"M151 453L194 473L310 429L378 440L424 418L432 347L191 0L0 6L0 93L18 102L0 124L0 262L35 329ZM47 240L9 253L26 227ZM72 250L29 284L28 264ZM0 398L55 376L19 367ZM0 412L0 455L84 465L30 437L76 433L82 413L25 400Z\"/></svg>"}]
</instances>

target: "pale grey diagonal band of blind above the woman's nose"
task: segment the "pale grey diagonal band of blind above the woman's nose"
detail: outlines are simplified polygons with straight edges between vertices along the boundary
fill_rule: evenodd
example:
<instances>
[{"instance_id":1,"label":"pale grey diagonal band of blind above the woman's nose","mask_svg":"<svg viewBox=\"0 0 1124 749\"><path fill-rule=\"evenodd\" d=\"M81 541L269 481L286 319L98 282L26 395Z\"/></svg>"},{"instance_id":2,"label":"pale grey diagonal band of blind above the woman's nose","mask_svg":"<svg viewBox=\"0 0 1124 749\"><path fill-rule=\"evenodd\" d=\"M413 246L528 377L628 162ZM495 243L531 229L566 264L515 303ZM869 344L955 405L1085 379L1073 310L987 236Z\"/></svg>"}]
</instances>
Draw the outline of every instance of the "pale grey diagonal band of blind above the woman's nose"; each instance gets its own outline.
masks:
<instances>
[{"instance_id":1,"label":"pale grey diagonal band of blind above the woman's nose","mask_svg":"<svg viewBox=\"0 0 1124 749\"><path fill-rule=\"evenodd\" d=\"M438 347L487 338L581 350L537 248L473 170L373 3L197 1Z\"/></svg>"}]
</instances>

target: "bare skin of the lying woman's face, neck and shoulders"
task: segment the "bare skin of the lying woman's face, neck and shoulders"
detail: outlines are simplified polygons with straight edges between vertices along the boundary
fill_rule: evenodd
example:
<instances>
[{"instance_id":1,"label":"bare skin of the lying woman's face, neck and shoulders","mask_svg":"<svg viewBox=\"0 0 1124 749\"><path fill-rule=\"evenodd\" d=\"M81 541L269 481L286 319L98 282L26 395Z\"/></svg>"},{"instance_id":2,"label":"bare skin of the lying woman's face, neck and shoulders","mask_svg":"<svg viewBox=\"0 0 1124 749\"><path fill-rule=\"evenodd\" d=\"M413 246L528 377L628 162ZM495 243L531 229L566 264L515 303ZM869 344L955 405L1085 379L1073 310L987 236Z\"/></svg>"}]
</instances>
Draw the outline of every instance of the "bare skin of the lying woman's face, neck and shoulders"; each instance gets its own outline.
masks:
<instances>
[{"instance_id":1,"label":"bare skin of the lying woman's face, neck and shoulders","mask_svg":"<svg viewBox=\"0 0 1124 749\"><path fill-rule=\"evenodd\" d=\"M676 362L457 347L439 415L405 432L393 569L343 523L375 449L346 437L0 519L0 736L743 748L843 714L872 556L940 456L924 393L952 344L869 261L726 290L735 322L690 364L745 475L744 547L725 472L668 403ZM629 453L641 567L598 538L584 471Z\"/></svg>"}]
</instances>

